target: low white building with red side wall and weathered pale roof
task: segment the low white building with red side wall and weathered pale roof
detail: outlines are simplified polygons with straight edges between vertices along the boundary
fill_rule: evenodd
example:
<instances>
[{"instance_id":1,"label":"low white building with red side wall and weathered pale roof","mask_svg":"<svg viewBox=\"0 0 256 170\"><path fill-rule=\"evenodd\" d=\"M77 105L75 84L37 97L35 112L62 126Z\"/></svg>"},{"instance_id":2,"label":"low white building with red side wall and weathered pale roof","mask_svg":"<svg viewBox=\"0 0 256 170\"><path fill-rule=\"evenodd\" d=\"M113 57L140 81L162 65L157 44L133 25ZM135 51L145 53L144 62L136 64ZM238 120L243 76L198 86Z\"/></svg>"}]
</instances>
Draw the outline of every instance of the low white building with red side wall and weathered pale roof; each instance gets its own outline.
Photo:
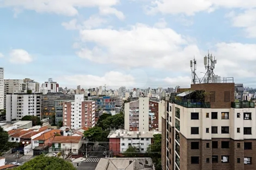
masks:
<instances>
[{"instance_id":1,"label":"low white building with red side wall and weathered pale roof","mask_svg":"<svg viewBox=\"0 0 256 170\"><path fill-rule=\"evenodd\" d=\"M127 131L115 130L108 135L109 149L114 154L124 153L129 146L134 146L140 153L146 153L147 148L152 143L155 134L161 134L157 131Z\"/></svg>"}]
</instances>

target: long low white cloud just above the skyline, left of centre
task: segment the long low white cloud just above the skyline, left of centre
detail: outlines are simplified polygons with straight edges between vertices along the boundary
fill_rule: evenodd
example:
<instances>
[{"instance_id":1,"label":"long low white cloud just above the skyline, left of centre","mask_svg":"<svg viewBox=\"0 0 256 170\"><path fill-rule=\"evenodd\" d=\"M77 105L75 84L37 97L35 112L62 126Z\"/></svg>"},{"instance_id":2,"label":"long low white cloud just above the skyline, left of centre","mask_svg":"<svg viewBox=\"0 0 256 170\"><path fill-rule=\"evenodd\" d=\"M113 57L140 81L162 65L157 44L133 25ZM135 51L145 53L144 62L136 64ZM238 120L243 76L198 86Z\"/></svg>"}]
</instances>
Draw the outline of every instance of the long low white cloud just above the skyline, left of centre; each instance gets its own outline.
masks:
<instances>
[{"instance_id":1,"label":"long low white cloud just above the skyline, left of centre","mask_svg":"<svg viewBox=\"0 0 256 170\"><path fill-rule=\"evenodd\" d=\"M106 72L102 77L95 75L72 75L58 78L58 81L67 82L72 85L81 85L82 87L96 87L107 84L109 87L120 87L135 85L135 78L130 74L123 74L118 71Z\"/></svg>"}]
</instances>

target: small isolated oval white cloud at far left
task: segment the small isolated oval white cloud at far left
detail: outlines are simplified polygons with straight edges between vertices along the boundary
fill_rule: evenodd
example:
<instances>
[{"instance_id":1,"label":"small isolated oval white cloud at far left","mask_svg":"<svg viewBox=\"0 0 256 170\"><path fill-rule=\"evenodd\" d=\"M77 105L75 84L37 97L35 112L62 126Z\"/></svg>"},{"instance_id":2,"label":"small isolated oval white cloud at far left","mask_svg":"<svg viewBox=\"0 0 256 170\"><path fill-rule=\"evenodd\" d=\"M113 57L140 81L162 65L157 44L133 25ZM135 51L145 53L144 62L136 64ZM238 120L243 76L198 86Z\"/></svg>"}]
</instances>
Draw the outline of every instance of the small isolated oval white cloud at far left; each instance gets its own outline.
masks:
<instances>
[{"instance_id":1,"label":"small isolated oval white cloud at far left","mask_svg":"<svg viewBox=\"0 0 256 170\"><path fill-rule=\"evenodd\" d=\"M10 52L10 62L15 64L26 64L32 62L32 56L23 49L13 49Z\"/></svg>"}]
</instances>

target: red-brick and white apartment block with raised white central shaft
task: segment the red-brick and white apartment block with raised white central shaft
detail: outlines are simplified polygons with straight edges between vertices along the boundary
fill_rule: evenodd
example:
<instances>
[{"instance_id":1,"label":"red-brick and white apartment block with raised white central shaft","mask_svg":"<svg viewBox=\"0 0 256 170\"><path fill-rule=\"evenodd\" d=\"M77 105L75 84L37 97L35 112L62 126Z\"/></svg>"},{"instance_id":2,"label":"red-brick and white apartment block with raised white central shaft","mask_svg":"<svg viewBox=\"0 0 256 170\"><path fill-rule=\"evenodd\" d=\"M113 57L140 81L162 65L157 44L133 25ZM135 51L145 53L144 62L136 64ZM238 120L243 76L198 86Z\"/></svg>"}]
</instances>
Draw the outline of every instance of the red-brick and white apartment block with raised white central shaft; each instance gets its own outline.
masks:
<instances>
[{"instance_id":1,"label":"red-brick and white apartment block with raised white central shaft","mask_svg":"<svg viewBox=\"0 0 256 170\"><path fill-rule=\"evenodd\" d=\"M83 94L76 94L75 101L63 104L63 125L71 129L95 126L95 101L84 100Z\"/></svg>"}]
</instances>

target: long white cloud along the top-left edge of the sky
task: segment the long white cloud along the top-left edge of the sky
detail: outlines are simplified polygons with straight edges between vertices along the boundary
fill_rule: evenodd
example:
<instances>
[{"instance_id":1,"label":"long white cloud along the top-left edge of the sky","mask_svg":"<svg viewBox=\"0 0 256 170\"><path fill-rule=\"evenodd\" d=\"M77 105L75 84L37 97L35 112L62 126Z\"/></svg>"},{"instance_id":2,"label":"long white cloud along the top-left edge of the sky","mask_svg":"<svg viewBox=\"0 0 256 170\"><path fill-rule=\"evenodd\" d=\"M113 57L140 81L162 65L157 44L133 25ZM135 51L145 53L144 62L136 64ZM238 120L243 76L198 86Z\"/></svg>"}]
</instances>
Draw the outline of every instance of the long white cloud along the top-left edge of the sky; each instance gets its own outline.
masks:
<instances>
[{"instance_id":1,"label":"long white cloud along the top-left edge of the sky","mask_svg":"<svg viewBox=\"0 0 256 170\"><path fill-rule=\"evenodd\" d=\"M2 0L0 7L13 7L16 11L25 9L75 16L78 14L77 8L110 7L118 3L120 0Z\"/></svg>"}]
</instances>

